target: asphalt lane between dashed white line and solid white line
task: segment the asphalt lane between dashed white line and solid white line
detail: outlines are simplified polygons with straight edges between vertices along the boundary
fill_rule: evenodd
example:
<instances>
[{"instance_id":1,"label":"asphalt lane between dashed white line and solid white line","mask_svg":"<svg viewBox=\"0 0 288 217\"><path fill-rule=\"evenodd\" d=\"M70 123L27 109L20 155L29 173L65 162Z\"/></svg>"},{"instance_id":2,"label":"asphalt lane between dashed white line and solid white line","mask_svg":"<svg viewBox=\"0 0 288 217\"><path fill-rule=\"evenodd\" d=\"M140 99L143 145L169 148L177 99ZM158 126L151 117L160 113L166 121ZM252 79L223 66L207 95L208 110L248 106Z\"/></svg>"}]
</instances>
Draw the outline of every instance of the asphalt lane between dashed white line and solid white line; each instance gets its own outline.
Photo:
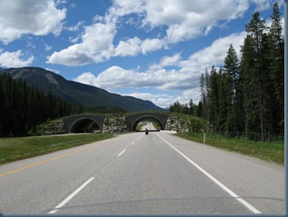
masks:
<instances>
[{"instance_id":1,"label":"asphalt lane between dashed white line and solid white line","mask_svg":"<svg viewBox=\"0 0 288 217\"><path fill-rule=\"evenodd\" d=\"M187 163L155 133L94 174L57 213L252 213Z\"/></svg>"}]
</instances>

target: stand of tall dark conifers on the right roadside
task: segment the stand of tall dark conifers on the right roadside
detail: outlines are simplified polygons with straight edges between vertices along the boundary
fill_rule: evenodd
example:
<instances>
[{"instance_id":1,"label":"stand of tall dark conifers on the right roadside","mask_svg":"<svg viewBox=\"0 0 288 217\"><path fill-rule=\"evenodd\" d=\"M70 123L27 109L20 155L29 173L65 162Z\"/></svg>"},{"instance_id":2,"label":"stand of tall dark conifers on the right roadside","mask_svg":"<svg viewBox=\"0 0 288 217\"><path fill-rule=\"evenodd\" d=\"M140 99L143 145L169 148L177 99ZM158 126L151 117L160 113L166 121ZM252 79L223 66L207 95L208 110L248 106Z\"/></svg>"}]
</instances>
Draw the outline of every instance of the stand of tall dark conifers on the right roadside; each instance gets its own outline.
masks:
<instances>
[{"instance_id":1,"label":"stand of tall dark conifers on the right roadside","mask_svg":"<svg viewBox=\"0 0 288 217\"><path fill-rule=\"evenodd\" d=\"M272 25L258 12L245 25L239 60L230 45L223 66L200 77L204 132L271 141L284 130L284 39L281 14L273 5Z\"/></svg>"}]
</instances>

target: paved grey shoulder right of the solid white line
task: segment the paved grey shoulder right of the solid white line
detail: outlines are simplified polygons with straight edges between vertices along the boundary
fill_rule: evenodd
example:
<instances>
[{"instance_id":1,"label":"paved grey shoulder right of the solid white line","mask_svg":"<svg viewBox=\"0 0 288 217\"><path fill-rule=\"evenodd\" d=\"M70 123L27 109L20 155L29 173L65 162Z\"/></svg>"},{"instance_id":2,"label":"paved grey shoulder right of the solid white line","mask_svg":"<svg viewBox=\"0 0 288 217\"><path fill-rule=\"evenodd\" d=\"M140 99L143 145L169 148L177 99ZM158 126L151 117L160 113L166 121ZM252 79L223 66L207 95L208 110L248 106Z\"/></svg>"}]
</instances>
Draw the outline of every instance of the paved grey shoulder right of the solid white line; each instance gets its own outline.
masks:
<instances>
[{"instance_id":1,"label":"paved grey shoulder right of the solid white line","mask_svg":"<svg viewBox=\"0 0 288 217\"><path fill-rule=\"evenodd\" d=\"M261 212L286 212L283 166L190 142L171 133L161 136Z\"/></svg>"}]
</instances>

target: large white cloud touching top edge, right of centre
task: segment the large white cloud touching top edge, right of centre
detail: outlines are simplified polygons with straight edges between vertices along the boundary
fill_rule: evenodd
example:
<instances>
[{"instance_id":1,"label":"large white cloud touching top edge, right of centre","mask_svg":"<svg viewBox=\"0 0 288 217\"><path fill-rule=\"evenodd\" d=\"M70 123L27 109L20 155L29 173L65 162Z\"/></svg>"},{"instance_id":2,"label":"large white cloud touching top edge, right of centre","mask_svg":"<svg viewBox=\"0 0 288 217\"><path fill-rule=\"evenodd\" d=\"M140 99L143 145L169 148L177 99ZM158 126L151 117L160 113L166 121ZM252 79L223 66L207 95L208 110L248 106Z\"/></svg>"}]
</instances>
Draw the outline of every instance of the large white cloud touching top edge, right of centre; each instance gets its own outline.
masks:
<instances>
[{"instance_id":1,"label":"large white cloud touching top edge, right of centre","mask_svg":"<svg viewBox=\"0 0 288 217\"><path fill-rule=\"evenodd\" d=\"M148 29L166 26L165 40L178 43L208 34L220 21L242 17L248 7L248 0L115 0L109 12L115 16L137 13L143 17L142 26Z\"/></svg>"}]
</instances>

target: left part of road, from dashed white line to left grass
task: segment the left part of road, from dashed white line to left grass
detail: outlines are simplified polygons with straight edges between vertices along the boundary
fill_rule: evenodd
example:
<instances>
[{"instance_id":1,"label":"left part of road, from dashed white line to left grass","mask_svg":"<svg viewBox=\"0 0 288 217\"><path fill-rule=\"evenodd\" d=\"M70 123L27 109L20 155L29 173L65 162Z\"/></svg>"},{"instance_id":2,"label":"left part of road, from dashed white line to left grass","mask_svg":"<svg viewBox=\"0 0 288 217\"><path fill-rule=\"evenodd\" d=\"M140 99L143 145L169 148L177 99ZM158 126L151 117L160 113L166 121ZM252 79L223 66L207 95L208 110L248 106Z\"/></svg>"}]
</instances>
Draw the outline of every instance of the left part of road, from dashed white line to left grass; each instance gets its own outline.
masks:
<instances>
[{"instance_id":1,"label":"left part of road, from dashed white line to left grass","mask_svg":"<svg viewBox=\"0 0 288 217\"><path fill-rule=\"evenodd\" d=\"M136 134L0 166L0 212L47 213L136 139ZM53 161L47 161L55 159ZM46 163L43 163L45 162ZM30 165L35 165L29 167ZM15 173L17 169L26 168ZM76 187L76 188L75 188Z\"/></svg>"}]
</instances>

